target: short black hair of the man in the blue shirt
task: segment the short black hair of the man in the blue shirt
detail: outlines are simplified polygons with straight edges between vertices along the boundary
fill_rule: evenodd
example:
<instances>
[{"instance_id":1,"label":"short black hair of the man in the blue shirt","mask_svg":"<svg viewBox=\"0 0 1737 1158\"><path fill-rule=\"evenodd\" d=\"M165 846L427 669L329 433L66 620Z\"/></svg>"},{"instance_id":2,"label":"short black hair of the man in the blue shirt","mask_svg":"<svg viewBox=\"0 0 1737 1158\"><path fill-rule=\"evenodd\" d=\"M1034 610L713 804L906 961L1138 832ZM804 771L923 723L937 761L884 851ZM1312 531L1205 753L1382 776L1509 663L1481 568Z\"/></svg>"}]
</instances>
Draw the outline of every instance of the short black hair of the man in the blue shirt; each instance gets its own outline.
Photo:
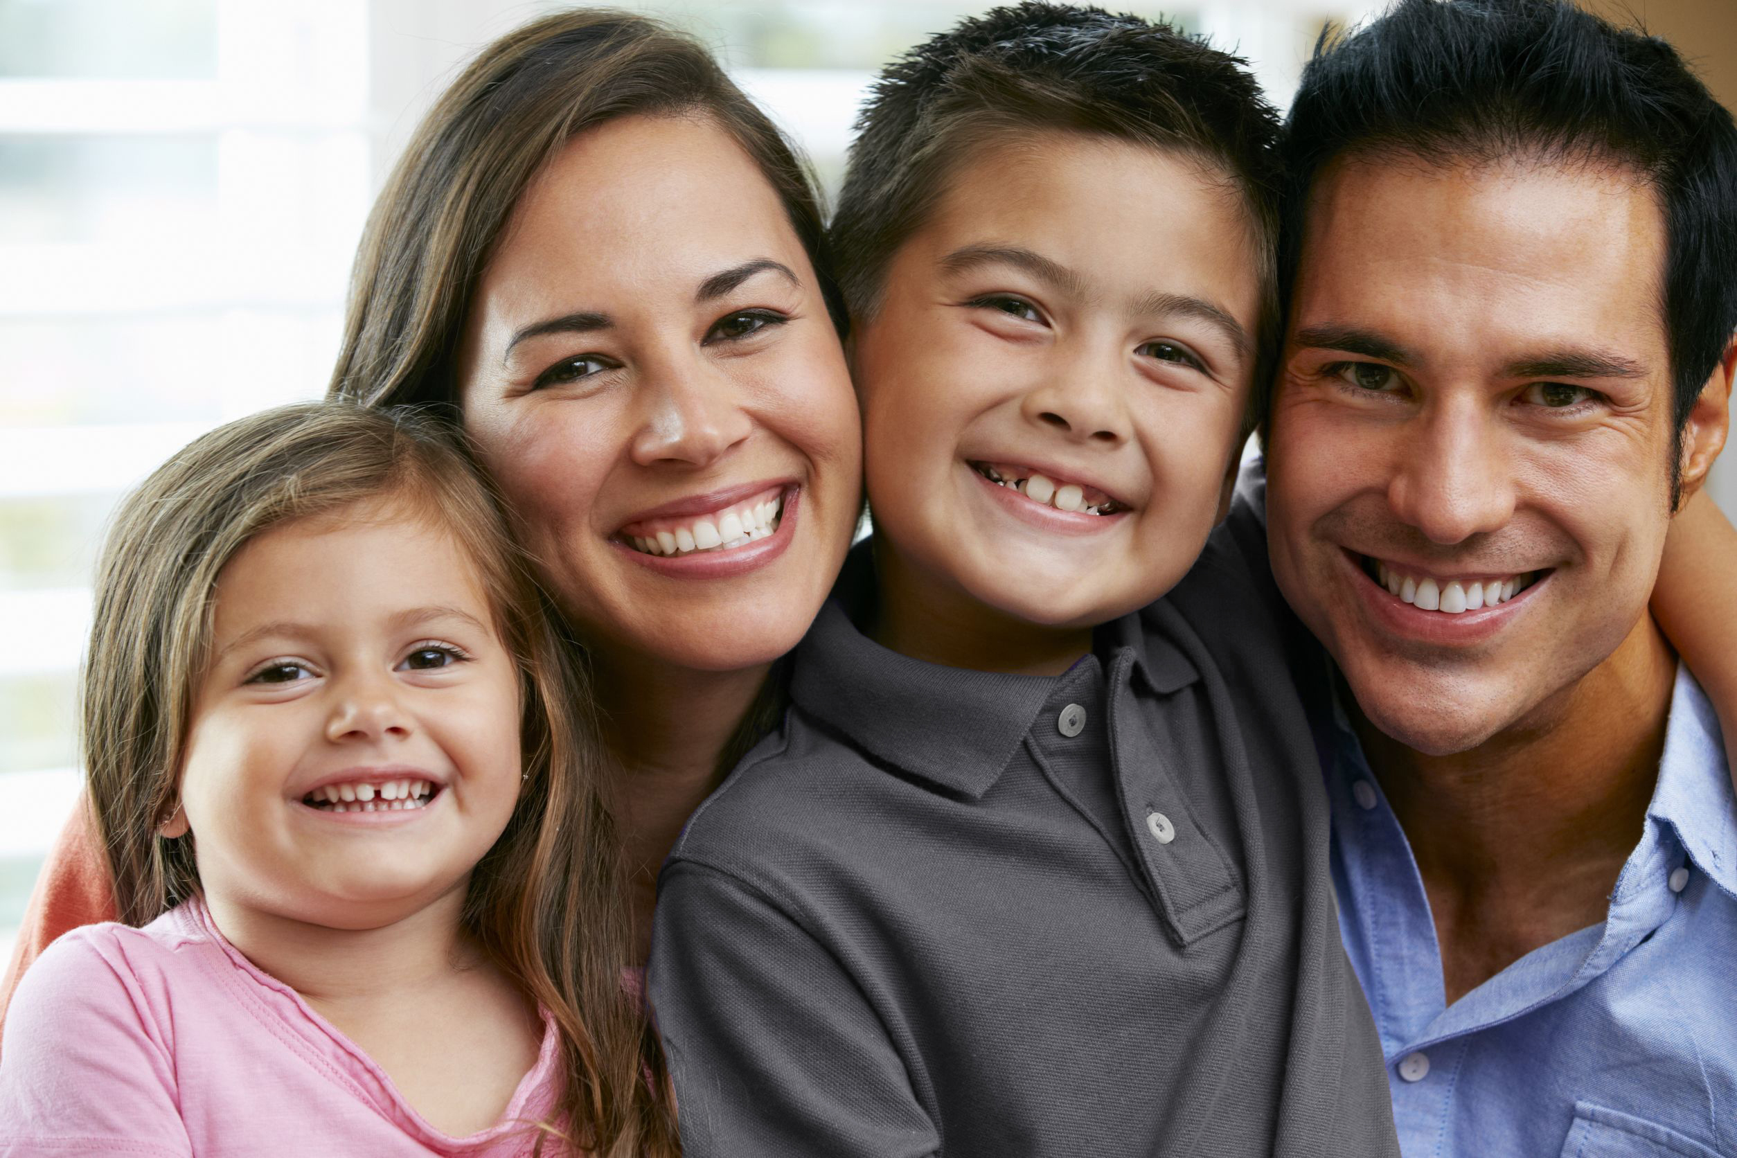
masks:
<instances>
[{"instance_id":1,"label":"short black hair of the man in the blue shirt","mask_svg":"<svg viewBox=\"0 0 1737 1158\"><path fill-rule=\"evenodd\" d=\"M1287 295L1310 186L1339 156L1615 165L1645 181L1664 214L1678 431L1737 330L1732 115L1664 40L1565 0L1400 0L1355 35L1324 33L1284 155Z\"/></svg>"}]
</instances>

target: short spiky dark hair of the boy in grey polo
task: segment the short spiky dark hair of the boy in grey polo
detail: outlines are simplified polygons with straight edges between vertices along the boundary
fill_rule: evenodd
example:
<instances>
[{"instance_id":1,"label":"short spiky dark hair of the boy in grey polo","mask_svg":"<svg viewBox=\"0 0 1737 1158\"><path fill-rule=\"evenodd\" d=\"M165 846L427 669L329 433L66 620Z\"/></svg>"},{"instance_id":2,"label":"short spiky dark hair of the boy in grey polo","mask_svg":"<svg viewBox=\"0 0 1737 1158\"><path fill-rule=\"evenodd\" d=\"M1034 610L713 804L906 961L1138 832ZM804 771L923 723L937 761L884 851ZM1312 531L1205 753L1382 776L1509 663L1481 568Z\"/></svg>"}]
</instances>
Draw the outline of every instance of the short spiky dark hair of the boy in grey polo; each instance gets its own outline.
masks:
<instances>
[{"instance_id":1,"label":"short spiky dark hair of the boy in grey polo","mask_svg":"<svg viewBox=\"0 0 1737 1158\"><path fill-rule=\"evenodd\" d=\"M832 219L853 316L875 311L888 262L961 160L985 141L1034 130L1172 149L1223 172L1261 253L1259 349L1277 345L1278 122L1245 61L1167 24L1054 3L962 21L881 73Z\"/></svg>"}]
</instances>

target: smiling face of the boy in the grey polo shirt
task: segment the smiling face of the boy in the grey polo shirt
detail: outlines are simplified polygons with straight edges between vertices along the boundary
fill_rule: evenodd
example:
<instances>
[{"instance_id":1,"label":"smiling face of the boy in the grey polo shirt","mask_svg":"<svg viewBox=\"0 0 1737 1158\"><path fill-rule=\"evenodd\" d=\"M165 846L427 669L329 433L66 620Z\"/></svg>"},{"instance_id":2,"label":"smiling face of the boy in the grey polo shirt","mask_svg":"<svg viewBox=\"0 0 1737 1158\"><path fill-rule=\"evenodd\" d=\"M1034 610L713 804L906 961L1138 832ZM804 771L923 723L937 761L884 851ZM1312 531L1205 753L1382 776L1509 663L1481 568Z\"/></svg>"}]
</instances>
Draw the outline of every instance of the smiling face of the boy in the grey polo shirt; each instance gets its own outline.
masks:
<instances>
[{"instance_id":1,"label":"smiling face of the boy in the grey polo shirt","mask_svg":"<svg viewBox=\"0 0 1737 1158\"><path fill-rule=\"evenodd\" d=\"M1075 630L1167 592L1219 509L1258 309L1245 210L1193 160L978 149L853 332L884 575L941 615Z\"/></svg>"}]
</instances>

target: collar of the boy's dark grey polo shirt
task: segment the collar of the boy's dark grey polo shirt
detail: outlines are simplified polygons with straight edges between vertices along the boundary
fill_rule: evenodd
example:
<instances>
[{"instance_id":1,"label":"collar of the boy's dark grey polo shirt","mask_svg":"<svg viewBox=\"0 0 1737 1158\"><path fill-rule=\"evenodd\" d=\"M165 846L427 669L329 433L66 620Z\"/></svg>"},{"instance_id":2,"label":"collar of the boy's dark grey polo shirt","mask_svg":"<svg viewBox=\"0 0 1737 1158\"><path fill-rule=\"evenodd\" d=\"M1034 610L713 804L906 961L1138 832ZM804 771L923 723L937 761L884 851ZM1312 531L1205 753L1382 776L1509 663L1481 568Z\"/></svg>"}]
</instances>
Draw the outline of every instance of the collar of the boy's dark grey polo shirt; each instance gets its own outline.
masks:
<instances>
[{"instance_id":1,"label":"collar of the boy's dark grey polo shirt","mask_svg":"<svg viewBox=\"0 0 1737 1158\"><path fill-rule=\"evenodd\" d=\"M976 799L1001 778L1037 714L1067 675L1004 675L941 667L882 648L853 622L874 599L870 543L851 549L832 597L796 649L790 700L870 755ZM1155 691L1193 682L1188 658L1155 639L1141 616L1098 628L1096 653L1133 651Z\"/></svg>"}]
</instances>

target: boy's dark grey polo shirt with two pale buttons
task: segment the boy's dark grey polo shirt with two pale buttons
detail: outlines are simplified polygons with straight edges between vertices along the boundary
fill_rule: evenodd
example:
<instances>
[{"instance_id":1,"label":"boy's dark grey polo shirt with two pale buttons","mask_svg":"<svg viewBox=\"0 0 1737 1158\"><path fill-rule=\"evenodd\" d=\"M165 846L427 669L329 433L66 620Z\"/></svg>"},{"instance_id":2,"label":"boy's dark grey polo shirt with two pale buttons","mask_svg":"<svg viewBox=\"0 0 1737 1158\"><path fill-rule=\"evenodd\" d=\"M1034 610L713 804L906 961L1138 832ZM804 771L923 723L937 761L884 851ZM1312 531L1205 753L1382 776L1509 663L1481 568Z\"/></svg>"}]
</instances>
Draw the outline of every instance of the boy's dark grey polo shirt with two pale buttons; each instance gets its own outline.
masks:
<instances>
[{"instance_id":1,"label":"boy's dark grey polo shirt with two pale buttons","mask_svg":"<svg viewBox=\"0 0 1737 1158\"><path fill-rule=\"evenodd\" d=\"M1252 582L1216 542L1016 677L867 639L853 552L783 726L660 877L691 1158L1398 1155Z\"/></svg>"}]
</instances>

